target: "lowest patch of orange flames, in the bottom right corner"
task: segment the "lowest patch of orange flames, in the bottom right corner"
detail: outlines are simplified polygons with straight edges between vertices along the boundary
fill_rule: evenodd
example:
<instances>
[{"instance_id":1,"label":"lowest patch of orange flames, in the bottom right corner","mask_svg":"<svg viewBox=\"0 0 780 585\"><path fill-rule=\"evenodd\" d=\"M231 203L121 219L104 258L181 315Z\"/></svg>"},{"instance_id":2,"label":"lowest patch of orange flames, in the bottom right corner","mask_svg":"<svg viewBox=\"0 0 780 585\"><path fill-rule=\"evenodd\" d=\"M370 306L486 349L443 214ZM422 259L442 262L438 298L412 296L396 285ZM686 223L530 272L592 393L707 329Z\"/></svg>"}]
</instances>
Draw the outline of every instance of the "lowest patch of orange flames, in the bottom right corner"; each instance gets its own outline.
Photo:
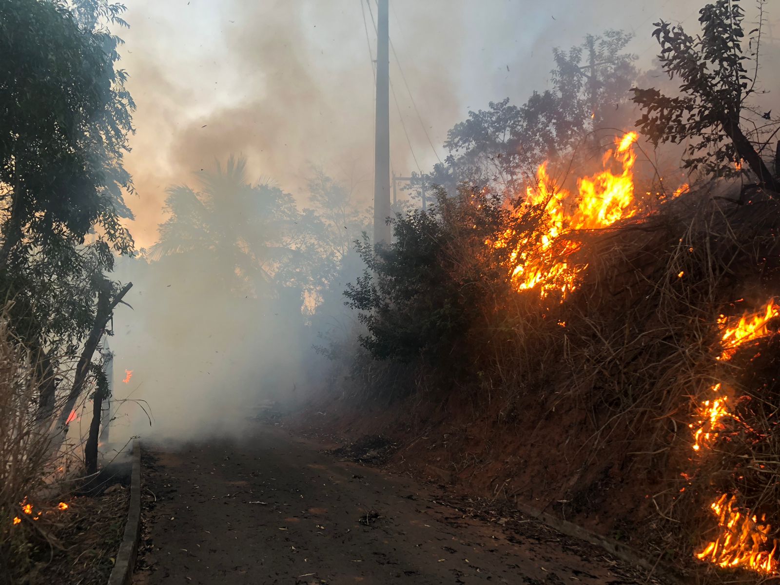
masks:
<instances>
[{"instance_id":1,"label":"lowest patch of orange flames, in the bottom right corner","mask_svg":"<svg viewBox=\"0 0 780 585\"><path fill-rule=\"evenodd\" d=\"M736 496L729 498L722 495L717 502L710 505L713 514L718 518L718 537L711 541L696 557L720 567L741 567L753 569L758 573L775 573L778 562L775 551L778 541L771 540L771 551L765 550L770 543L771 526L766 517L744 514L736 509ZM761 550L764 548L764 550Z\"/></svg>"}]
</instances>

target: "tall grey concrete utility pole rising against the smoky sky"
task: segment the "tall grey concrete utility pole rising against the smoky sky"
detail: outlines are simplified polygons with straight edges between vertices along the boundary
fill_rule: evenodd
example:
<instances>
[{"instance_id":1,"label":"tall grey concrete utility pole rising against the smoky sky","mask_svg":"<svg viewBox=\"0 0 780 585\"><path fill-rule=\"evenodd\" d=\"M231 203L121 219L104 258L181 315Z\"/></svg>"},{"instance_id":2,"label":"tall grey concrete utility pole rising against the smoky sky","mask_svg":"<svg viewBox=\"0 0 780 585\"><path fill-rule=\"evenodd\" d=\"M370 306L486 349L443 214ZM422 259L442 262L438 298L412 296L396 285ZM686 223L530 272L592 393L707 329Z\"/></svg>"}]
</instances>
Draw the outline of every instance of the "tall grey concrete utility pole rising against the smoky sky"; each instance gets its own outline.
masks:
<instances>
[{"instance_id":1,"label":"tall grey concrete utility pole rising against the smoky sky","mask_svg":"<svg viewBox=\"0 0 780 585\"><path fill-rule=\"evenodd\" d=\"M378 0L377 125L374 144L374 243L390 243L390 54L388 0Z\"/></svg>"}]
</instances>

